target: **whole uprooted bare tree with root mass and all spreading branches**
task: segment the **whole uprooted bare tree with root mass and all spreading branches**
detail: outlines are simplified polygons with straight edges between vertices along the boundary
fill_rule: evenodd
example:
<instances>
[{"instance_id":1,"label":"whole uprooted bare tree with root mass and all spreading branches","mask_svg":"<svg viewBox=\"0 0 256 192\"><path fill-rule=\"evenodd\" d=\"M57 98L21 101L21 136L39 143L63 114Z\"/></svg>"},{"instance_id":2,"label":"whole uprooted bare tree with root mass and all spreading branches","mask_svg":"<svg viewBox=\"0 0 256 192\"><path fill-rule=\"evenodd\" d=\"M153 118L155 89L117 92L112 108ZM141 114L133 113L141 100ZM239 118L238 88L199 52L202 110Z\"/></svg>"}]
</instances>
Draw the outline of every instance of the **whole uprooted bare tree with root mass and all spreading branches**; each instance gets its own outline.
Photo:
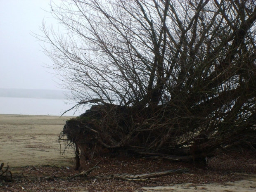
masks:
<instances>
[{"instance_id":1,"label":"whole uprooted bare tree with root mass and all spreading branches","mask_svg":"<svg viewBox=\"0 0 256 192\"><path fill-rule=\"evenodd\" d=\"M255 149L255 1L73 0L51 8L67 33L44 24L39 38L51 46L73 108L90 107L63 130L77 165L105 149L194 162L220 148Z\"/></svg>"}]
</instances>

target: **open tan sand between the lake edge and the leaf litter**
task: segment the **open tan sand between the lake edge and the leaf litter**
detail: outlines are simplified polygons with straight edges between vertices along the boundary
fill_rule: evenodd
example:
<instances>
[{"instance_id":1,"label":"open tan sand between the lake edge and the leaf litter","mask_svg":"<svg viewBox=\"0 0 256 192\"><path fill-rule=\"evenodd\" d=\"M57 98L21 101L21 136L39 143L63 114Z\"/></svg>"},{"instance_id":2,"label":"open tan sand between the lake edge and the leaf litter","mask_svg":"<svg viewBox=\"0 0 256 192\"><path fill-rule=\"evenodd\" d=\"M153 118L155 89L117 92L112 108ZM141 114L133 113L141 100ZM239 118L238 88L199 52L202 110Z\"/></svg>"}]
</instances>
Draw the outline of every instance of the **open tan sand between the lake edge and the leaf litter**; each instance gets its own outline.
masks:
<instances>
[{"instance_id":1,"label":"open tan sand between the lake edge and the leaf litter","mask_svg":"<svg viewBox=\"0 0 256 192\"><path fill-rule=\"evenodd\" d=\"M10 167L69 165L74 151L62 154L58 136L70 118L0 114L0 162Z\"/></svg>"}]
</instances>

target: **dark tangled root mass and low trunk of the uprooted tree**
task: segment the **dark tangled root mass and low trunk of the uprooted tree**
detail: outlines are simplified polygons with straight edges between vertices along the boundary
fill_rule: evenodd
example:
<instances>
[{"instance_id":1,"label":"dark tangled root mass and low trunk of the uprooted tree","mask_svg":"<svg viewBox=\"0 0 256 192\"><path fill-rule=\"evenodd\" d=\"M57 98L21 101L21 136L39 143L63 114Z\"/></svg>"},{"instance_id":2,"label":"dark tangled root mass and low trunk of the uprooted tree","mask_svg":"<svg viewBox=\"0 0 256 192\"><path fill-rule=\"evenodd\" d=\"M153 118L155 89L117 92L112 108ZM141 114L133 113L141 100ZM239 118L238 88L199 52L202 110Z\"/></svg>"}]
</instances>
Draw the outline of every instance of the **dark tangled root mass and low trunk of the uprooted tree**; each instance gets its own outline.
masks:
<instances>
[{"instance_id":1,"label":"dark tangled root mass and low trunk of the uprooted tree","mask_svg":"<svg viewBox=\"0 0 256 192\"><path fill-rule=\"evenodd\" d=\"M253 128L255 114L246 122L237 124L235 130L227 128L219 131L219 126L222 126L220 122L217 126L215 124L216 127L207 128L207 132L201 129L204 132L199 134L192 131L193 126L181 133L175 128L171 130L171 111L166 108L166 118L165 113L159 111L161 121L142 118L150 113L147 110L148 108L143 108L137 114L138 110L133 107L95 105L85 114L66 121L59 139L76 145L76 169L80 166L80 158L91 160L94 155L106 152L105 149L108 149L109 154L139 154L173 161L202 161L207 164L207 158L213 156L216 149L234 144L240 147L254 145L251 138L256 138Z\"/></svg>"}]
</instances>

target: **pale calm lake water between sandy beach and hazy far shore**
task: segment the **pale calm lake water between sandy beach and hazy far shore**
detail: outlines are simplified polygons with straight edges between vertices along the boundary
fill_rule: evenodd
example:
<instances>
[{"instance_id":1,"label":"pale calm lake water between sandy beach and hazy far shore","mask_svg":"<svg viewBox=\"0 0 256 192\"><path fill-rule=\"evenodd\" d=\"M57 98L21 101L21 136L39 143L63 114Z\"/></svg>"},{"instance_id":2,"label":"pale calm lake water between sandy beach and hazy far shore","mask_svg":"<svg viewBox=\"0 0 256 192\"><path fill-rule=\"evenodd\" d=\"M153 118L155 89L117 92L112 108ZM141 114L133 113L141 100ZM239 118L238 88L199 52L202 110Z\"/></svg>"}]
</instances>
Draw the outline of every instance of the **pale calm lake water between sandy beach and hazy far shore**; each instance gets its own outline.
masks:
<instances>
[{"instance_id":1,"label":"pale calm lake water between sandy beach and hazy far shore","mask_svg":"<svg viewBox=\"0 0 256 192\"><path fill-rule=\"evenodd\" d=\"M74 105L67 100L0 97L0 114L61 116L64 111L71 109ZM71 110L64 116L78 116L85 110L81 108L76 113L76 110Z\"/></svg>"}]
</instances>

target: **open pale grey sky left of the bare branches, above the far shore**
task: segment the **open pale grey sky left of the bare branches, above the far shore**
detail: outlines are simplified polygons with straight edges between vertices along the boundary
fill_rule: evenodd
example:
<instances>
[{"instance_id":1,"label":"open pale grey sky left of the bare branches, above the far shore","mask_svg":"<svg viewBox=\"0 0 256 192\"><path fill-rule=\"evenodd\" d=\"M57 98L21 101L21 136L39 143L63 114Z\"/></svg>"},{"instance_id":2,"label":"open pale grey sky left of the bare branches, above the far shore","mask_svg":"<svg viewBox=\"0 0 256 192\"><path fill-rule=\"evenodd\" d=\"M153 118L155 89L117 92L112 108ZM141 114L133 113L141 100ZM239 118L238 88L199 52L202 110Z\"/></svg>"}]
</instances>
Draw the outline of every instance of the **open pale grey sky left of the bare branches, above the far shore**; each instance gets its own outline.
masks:
<instances>
[{"instance_id":1,"label":"open pale grey sky left of the bare branches, above the far shore","mask_svg":"<svg viewBox=\"0 0 256 192\"><path fill-rule=\"evenodd\" d=\"M52 61L31 35L40 33L43 19L48 26L54 22L43 10L49 10L49 4L50 0L0 0L0 88L60 90L58 79L45 68Z\"/></svg>"}]
</instances>

